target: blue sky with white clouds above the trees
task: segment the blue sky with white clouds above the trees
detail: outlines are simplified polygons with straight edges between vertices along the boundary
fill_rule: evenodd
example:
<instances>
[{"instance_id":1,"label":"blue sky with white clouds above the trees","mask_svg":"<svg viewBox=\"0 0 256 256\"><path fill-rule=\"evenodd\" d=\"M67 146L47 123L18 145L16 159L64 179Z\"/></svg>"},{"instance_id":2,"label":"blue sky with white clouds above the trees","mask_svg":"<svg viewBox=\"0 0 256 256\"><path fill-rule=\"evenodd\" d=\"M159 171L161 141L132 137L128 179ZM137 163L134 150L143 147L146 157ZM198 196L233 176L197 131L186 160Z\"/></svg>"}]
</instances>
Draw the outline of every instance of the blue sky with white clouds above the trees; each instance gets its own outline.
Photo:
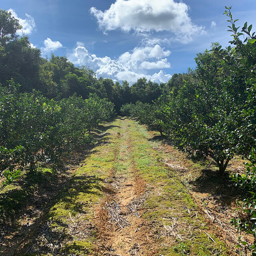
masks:
<instances>
[{"instance_id":1,"label":"blue sky with white clouds above the trees","mask_svg":"<svg viewBox=\"0 0 256 256\"><path fill-rule=\"evenodd\" d=\"M255 0L1 0L20 20L32 47L66 56L97 77L167 82L195 68L198 52L231 40L225 6L256 28ZM255 25L255 27L254 27Z\"/></svg>"}]
</instances>

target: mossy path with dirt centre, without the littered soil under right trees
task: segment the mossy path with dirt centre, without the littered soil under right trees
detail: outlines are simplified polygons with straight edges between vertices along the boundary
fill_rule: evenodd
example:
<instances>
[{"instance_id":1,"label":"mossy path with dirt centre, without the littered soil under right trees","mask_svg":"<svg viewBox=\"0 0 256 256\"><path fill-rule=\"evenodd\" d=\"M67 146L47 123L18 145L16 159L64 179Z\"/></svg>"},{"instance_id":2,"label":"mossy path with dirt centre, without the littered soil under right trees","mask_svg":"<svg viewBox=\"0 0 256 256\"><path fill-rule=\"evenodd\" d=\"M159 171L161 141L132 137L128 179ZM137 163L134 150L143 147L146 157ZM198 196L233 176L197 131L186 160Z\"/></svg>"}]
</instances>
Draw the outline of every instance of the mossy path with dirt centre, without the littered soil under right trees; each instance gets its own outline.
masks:
<instances>
[{"instance_id":1,"label":"mossy path with dirt centre, without the littered soil under right trees","mask_svg":"<svg viewBox=\"0 0 256 256\"><path fill-rule=\"evenodd\" d=\"M237 255L163 163L144 126L117 118L97 132L97 146L40 221L1 255Z\"/></svg>"}]
</instances>

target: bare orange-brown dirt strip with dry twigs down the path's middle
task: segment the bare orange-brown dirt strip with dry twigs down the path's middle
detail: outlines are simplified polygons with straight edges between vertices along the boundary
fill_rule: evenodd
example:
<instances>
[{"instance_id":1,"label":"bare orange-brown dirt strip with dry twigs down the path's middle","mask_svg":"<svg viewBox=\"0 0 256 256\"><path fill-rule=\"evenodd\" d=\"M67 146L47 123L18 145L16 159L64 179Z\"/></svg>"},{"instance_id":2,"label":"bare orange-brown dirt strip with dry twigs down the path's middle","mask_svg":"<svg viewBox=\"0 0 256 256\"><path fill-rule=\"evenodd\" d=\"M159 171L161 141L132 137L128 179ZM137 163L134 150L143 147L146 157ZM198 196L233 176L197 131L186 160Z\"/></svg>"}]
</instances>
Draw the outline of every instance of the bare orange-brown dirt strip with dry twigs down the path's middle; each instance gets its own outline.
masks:
<instances>
[{"instance_id":1,"label":"bare orange-brown dirt strip with dry twigs down the path's middle","mask_svg":"<svg viewBox=\"0 0 256 256\"><path fill-rule=\"evenodd\" d=\"M120 152L111 177L115 193L106 195L96 209L95 224L100 241L97 252L103 255L155 255L156 244L142 215L149 191L138 174L132 157L130 124L122 122Z\"/></svg>"}]
</instances>

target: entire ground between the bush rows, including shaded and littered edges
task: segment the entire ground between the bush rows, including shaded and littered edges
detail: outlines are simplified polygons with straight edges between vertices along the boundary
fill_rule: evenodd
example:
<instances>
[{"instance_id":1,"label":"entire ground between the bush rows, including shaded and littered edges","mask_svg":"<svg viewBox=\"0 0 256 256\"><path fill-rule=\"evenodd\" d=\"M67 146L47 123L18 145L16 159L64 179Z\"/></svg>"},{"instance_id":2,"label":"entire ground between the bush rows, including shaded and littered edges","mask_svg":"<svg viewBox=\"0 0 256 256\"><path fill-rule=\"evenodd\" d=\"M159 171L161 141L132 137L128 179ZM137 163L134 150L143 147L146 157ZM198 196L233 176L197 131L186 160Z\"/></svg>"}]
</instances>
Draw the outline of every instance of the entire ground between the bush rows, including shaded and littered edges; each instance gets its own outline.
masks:
<instances>
[{"instance_id":1,"label":"entire ground between the bush rows, including shaded and littered edges","mask_svg":"<svg viewBox=\"0 0 256 256\"><path fill-rule=\"evenodd\" d=\"M46 200L41 193L16 205L1 255L246 255L229 223L238 192L228 177L216 181L217 167L194 164L130 118L95 132L96 147Z\"/></svg>"}]
</instances>

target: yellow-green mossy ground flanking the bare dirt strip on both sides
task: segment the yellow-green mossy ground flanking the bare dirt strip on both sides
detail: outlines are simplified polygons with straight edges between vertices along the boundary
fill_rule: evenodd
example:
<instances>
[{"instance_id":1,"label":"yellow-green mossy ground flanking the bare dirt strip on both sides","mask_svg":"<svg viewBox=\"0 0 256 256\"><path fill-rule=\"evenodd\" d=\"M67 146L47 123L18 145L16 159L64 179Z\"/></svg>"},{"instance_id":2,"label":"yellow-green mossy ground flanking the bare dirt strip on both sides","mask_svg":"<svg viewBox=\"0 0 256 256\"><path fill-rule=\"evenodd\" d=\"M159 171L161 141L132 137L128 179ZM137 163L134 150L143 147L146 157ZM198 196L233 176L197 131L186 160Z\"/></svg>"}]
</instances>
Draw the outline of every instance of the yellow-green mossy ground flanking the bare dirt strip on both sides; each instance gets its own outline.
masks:
<instances>
[{"instance_id":1,"label":"yellow-green mossy ground flanking the bare dirt strip on both sides","mask_svg":"<svg viewBox=\"0 0 256 256\"><path fill-rule=\"evenodd\" d=\"M158 244L157 255L229 255L224 242L207 226L204 216L186 193L178 174L171 172L162 163L161 153L154 149L158 142L149 140L150 133L144 126L129 118L117 118L111 124L102 125L96 132L106 133L99 136L97 146L80 166L70 172L63 188L45 207L44 216L36 220L41 224L48 223L50 238L46 241L36 240L42 236L42 225L38 224L34 230L28 230L34 234L26 240L22 252L10 256L24 255L35 240L36 245L26 255L38 255L36 250L40 251L41 256L95 255L98 244L95 208L106 194L110 194L111 188L108 185L112 183L114 175L128 179L134 172L143 178L146 190L149 191L145 202L148 210L142 218L156 235L154 242ZM129 144L124 142L124 136ZM26 195L19 196L26 200ZM172 226L174 220L180 238L171 236L169 240L164 226ZM77 232L79 229L80 233ZM49 246L51 241L58 246L55 252Z\"/></svg>"}]
</instances>

